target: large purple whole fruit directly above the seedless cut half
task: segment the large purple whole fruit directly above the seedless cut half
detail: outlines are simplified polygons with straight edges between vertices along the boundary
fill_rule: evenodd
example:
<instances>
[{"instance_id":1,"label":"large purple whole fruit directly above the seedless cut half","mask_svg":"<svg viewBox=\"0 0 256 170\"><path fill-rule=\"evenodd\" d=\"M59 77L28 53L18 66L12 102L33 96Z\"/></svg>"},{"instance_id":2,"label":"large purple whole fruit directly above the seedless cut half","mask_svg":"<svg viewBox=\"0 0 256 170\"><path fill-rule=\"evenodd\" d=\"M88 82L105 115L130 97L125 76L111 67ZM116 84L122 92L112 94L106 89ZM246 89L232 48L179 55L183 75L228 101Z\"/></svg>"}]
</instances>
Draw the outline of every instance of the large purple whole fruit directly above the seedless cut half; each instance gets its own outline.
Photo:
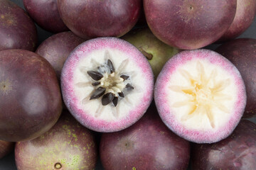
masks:
<instances>
[{"instance_id":1,"label":"large purple whole fruit directly above the seedless cut half","mask_svg":"<svg viewBox=\"0 0 256 170\"><path fill-rule=\"evenodd\" d=\"M172 47L194 50L210 45L230 27L236 0L144 0L152 33Z\"/></svg>"}]
</instances>

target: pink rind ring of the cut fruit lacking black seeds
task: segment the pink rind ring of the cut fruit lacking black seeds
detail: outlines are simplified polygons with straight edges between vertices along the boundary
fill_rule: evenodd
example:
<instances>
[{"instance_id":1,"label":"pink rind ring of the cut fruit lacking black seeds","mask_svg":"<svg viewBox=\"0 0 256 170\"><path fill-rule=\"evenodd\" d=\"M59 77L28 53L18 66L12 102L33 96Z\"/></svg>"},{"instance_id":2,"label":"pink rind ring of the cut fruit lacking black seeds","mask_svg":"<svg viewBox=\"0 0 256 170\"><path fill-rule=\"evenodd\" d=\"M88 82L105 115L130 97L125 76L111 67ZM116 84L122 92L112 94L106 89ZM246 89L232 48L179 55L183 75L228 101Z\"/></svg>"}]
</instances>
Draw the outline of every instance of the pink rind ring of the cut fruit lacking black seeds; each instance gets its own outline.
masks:
<instances>
[{"instance_id":1,"label":"pink rind ring of the cut fruit lacking black seeds","mask_svg":"<svg viewBox=\"0 0 256 170\"><path fill-rule=\"evenodd\" d=\"M235 102L233 115L230 115L228 123L216 131L208 130L203 132L201 130L189 130L188 128L185 128L178 120L176 120L175 113L170 108L166 99L166 86L168 85L171 74L182 64L198 58L207 59L212 64L216 64L225 69L228 74L235 78L235 84L238 87L238 99ZM156 102L156 107L161 119L177 135L196 143L218 142L225 137L228 137L228 135L233 132L242 117L246 104L245 84L238 69L229 60L222 55L219 55L217 52L211 50L187 50L180 52L166 62L159 77L156 79L154 101Z\"/></svg>"}]
</instances>

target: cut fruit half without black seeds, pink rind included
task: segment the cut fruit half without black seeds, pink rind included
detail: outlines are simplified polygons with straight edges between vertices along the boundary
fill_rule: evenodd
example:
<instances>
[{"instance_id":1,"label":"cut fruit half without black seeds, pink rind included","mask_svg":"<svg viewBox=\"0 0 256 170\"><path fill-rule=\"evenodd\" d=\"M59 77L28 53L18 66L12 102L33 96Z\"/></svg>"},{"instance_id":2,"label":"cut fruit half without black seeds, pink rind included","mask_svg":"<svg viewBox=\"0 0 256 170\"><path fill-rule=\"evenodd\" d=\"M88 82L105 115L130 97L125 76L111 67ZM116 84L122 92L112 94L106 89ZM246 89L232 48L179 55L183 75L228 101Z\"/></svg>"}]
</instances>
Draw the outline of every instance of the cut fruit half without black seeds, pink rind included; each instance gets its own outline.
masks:
<instances>
[{"instance_id":1,"label":"cut fruit half without black seeds, pink rind included","mask_svg":"<svg viewBox=\"0 0 256 170\"><path fill-rule=\"evenodd\" d=\"M164 123L196 143L228 137L245 109L245 84L238 69L211 50L172 57L156 79L154 99Z\"/></svg>"}]
</instances>

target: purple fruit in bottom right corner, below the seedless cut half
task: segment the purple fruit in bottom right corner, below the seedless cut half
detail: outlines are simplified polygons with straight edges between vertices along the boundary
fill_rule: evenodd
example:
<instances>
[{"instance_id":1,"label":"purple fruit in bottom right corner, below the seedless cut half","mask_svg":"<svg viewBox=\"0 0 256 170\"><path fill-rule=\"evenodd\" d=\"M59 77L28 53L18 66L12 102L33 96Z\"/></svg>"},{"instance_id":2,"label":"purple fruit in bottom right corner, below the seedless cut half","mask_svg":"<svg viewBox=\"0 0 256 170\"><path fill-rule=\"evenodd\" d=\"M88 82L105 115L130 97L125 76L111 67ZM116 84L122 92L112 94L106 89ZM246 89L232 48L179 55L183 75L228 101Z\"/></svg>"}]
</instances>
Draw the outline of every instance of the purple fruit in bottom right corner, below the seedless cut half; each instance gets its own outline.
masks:
<instances>
[{"instance_id":1,"label":"purple fruit in bottom right corner, below the seedless cut half","mask_svg":"<svg viewBox=\"0 0 256 170\"><path fill-rule=\"evenodd\" d=\"M256 124L241 120L225 140L192 145L193 170L249 170L256 167Z\"/></svg>"}]
</instances>

